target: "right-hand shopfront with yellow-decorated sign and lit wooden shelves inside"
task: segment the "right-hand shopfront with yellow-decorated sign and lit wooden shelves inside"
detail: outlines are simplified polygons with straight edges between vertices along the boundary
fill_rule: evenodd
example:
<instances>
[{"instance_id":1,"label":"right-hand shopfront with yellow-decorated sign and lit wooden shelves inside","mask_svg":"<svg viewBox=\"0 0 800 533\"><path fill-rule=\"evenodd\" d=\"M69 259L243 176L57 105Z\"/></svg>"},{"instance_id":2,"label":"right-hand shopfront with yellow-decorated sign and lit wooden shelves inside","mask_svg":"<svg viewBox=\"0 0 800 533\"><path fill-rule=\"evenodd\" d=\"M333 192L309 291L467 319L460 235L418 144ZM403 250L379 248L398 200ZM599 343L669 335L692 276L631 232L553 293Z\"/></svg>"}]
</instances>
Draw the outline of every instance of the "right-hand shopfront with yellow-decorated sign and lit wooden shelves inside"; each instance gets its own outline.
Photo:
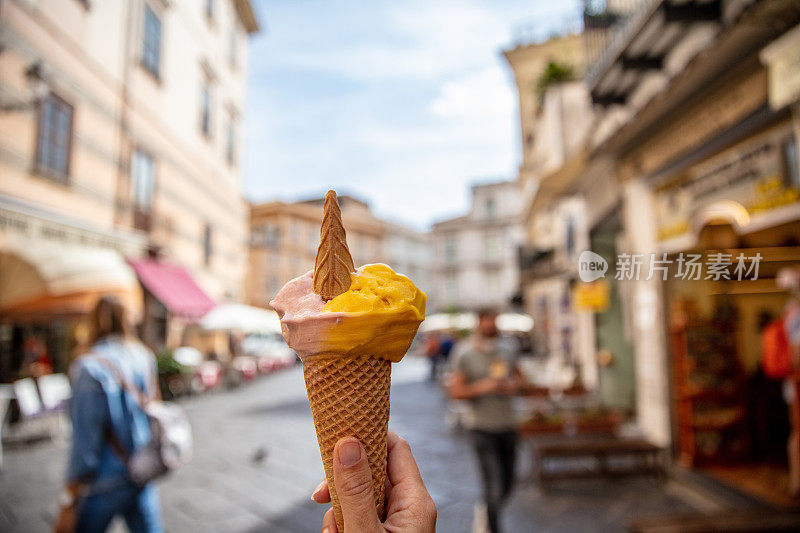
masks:
<instances>
[{"instance_id":1,"label":"right-hand shopfront with yellow-decorated sign and lit wooden shelves inside","mask_svg":"<svg viewBox=\"0 0 800 533\"><path fill-rule=\"evenodd\" d=\"M778 114L655 192L676 458L779 505L792 503L790 417L761 334L794 297L778 273L800 267L797 153Z\"/></svg>"}]
</instances>

